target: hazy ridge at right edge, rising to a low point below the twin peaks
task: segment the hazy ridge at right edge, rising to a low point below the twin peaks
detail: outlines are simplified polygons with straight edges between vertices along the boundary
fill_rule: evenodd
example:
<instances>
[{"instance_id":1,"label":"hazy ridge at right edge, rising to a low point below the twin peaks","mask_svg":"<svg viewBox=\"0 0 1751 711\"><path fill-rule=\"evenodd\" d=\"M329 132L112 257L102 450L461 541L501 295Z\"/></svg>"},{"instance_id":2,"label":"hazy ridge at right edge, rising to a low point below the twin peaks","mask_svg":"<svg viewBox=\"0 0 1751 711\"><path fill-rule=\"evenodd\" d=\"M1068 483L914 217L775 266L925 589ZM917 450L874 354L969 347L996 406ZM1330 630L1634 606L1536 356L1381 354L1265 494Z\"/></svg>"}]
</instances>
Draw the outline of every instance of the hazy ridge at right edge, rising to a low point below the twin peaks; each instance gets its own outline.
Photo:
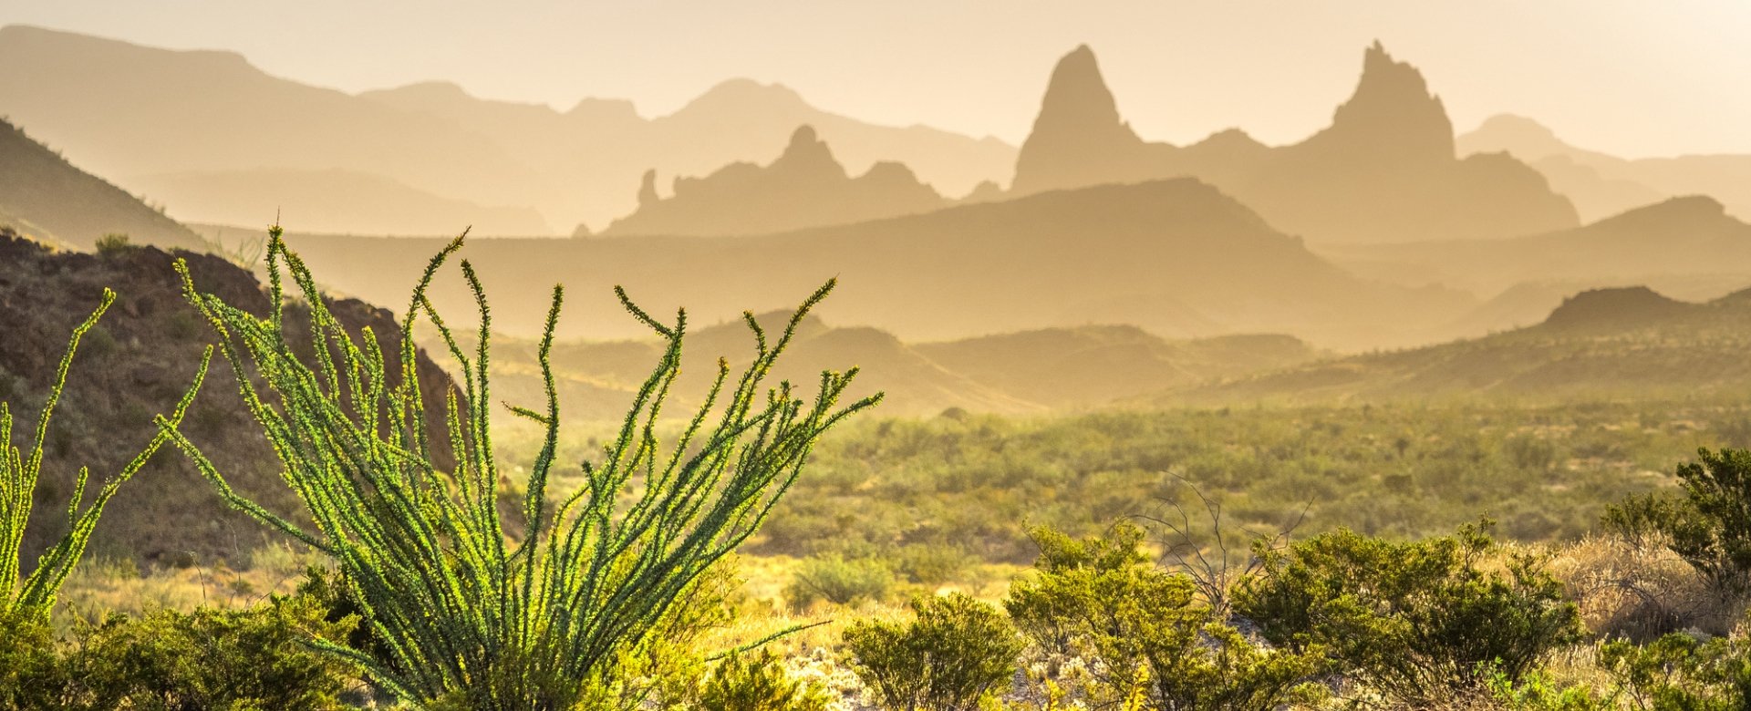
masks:
<instances>
[{"instance_id":1,"label":"hazy ridge at right edge, rising to a low point below the twin peaks","mask_svg":"<svg viewBox=\"0 0 1751 711\"><path fill-rule=\"evenodd\" d=\"M1488 296L1455 333L1541 320L1585 289L1653 285L1712 299L1751 285L1751 224L1705 196L1670 198L1593 224L1511 240L1327 247L1357 273L1401 285L1445 284Z\"/></svg>"}]
</instances>

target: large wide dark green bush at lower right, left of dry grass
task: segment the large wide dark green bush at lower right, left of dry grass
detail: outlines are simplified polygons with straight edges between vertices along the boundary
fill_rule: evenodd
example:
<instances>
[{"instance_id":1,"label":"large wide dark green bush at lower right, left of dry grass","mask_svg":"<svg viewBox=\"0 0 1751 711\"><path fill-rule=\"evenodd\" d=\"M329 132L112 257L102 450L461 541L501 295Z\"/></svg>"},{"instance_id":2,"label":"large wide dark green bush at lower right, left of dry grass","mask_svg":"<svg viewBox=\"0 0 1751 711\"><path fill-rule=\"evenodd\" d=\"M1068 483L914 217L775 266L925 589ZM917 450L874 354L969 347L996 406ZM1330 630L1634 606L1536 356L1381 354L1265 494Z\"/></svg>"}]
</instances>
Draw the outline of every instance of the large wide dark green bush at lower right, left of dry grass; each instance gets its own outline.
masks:
<instances>
[{"instance_id":1,"label":"large wide dark green bush at lower right, left of dry grass","mask_svg":"<svg viewBox=\"0 0 1751 711\"><path fill-rule=\"evenodd\" d=\"M1518 683L1581 637L1579 613L1543 557L1499 550L1487 527L1404 543L1340 529L1261 550L1234 609L1271 643L1326 650L1359 692L1397 702L1441 704L1490 674Z\"/></svg>"}]
</instances>

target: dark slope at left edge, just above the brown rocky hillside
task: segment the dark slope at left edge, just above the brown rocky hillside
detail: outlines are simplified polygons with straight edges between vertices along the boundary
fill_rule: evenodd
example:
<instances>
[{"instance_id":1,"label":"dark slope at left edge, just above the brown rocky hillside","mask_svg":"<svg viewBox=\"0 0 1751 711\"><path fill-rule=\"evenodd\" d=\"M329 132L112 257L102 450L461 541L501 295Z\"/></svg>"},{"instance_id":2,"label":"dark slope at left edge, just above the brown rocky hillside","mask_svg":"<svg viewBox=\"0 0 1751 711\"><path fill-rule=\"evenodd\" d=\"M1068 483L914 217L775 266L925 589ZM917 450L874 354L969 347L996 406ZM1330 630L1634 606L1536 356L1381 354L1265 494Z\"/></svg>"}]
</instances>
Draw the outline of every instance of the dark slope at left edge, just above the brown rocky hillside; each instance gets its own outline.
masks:
<instances>
[{"instance_id":1,"label":"dark slope at left edge, just above the brown rocky hillside","mask_svg":"<svg viewBox=\"0 0 1751 711\"><path fill-rule=\"evenodd\" d=\"M207 247L189 228L75 168L7 121L0 121L0 224L72 249L93 249L107 233L124 233L135 243Z\"/></svg>"}]
</instances>

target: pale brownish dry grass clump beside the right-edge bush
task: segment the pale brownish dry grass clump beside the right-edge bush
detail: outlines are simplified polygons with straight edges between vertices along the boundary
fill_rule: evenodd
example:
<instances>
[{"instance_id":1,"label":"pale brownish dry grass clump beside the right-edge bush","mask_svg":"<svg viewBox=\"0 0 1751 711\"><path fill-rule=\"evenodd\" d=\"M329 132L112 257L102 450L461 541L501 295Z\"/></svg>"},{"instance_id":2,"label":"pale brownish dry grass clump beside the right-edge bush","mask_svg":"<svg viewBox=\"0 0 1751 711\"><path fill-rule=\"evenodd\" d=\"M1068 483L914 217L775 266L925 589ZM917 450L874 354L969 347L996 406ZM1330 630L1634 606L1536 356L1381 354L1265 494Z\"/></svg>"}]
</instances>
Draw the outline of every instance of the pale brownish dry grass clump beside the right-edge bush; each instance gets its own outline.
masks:
<instances>
[{"instance_id":1,"label":"pale brownish dry grass clump beside the right-edge bush","mask_svg":"<svg viewBox=\"0 0 1751 711\"><path fill-rule=\"evenodd\" d=\"M1602 637L1651 641L1667 632L1725 636L1746 601L1709 585L1655 538L1592 536L1557 550L1551 573L1581 608L1586 629Z\"/></svg>"}]
</instances>

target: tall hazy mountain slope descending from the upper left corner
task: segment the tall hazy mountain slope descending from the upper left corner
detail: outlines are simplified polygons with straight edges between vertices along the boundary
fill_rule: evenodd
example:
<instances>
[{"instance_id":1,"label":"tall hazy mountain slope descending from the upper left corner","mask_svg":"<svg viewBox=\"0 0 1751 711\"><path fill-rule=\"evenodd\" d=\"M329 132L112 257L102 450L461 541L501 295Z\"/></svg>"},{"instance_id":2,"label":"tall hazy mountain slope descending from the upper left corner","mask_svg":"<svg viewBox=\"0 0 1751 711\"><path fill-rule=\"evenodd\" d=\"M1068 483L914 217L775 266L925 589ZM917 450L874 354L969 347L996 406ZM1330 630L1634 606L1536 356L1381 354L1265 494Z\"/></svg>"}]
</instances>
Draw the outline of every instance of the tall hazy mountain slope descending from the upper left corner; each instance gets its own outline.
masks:
<instances>
[{"instance_id":1,"label":"tall hazy mountain slope descending from the upper left corner","mask_svg":"<svg viewBox=\"0 0 1751 711\"><path fill-rule=\"evenodd\" d=\"M142 175L278 168L373 173L483 205L543 194L539 173L487 137L270 77L233 53L151 49L12 25L0 28L0 105L130 187ZM271 191L264 194L271 200ZM200 221L224 212L217 208L224 198L168 208ZM271 219L264 214L252 224Z\"/></svg>"}]
</instances>

